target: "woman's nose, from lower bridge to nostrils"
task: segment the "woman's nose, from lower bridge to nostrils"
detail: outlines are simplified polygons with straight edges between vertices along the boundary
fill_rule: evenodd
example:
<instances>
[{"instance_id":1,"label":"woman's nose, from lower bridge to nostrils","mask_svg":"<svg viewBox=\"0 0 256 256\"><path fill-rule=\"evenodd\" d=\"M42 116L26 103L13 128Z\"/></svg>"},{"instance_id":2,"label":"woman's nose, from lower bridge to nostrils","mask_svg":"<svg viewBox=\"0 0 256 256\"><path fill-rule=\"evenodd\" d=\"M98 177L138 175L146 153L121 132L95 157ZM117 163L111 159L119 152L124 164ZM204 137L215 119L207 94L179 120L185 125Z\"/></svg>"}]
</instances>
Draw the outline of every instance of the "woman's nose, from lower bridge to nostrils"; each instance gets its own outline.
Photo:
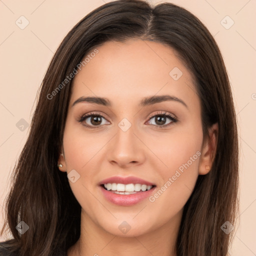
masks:
<instances>
[{"instance_id":1,"label":"woman's nose, from lower bridge to nostrils","mask_svg":"<svg viewBox=\"0 0 256 256\"><path fill-rule=\"evenodd\" d=\"M141 164L145 160L145 145L137 133L133 124L126 131L117 126L116 134L107 148L107 160L111 164L128 168Z\"/></svg>"}]
</instances>

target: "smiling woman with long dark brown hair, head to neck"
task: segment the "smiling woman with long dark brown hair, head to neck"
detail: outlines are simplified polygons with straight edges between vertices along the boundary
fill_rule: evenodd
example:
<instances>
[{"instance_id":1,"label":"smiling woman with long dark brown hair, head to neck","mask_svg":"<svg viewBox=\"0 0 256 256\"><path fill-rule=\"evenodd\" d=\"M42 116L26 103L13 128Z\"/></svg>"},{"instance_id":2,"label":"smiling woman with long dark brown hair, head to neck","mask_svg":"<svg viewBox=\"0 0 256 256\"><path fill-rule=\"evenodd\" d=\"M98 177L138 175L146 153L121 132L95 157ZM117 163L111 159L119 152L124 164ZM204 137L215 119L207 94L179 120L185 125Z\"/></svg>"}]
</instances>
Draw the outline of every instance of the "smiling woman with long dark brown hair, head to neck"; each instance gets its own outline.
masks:
<instances>
[{"instance_id":1,"label":"smiling woman with long dark brown hair, head to neck","mask_svg":"<svg viewBox=\"0 0 256 256\"><path fill-rule=\"evenodd\" d=\"M106 3L43 78L6 198L7 255L227 255L237 214L230 85L171 3Z\"/></svg>"}]
</instances>

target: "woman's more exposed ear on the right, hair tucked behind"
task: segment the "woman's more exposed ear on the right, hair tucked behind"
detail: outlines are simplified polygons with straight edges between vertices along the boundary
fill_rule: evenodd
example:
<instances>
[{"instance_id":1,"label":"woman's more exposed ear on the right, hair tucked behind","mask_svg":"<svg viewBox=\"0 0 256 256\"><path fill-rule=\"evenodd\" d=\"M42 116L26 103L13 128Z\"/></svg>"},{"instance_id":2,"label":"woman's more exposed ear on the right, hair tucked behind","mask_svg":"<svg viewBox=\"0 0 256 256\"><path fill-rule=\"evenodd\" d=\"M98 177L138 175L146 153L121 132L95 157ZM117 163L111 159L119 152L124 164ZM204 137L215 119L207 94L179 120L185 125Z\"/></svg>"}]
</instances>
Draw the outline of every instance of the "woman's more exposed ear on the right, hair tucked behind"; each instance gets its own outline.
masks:
<instances>
[{"instance_id":1,"label":"woman's more exposed ear on the right, hair tucked behind","mask_svg":"<svg viewBox=\"0 0 256 256\"><path fill-rule=\"evenodd\" d=\"M207 174L211 167L216 153L217 147L217 138L218 138L218 124L214 123L208 129L208 136L205 137L202 148L201 148L201 157L199 162L199 175Z\"/></svg>"}]
</instances>

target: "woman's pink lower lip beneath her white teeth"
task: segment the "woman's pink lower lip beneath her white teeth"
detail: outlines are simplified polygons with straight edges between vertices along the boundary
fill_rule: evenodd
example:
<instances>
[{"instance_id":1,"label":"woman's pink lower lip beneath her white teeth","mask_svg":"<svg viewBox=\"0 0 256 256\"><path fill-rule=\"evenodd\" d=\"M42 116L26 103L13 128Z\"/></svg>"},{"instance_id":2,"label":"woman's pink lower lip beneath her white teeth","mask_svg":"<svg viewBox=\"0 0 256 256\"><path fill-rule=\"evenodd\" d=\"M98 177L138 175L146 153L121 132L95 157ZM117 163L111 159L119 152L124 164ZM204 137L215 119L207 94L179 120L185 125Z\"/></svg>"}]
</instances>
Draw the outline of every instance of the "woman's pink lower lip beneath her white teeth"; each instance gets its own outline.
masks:
<instances>
[{"instance_id":1,"label":"woman's pink lower lip beneath her white teeth","mask_svg":"<svg viewBox=\"0 0 256 256\"><path fill-rule=\"evenodd\" d=\"M149 197L154 188L155 186L149 190L139 191L134 194L116 194L100 186L103 195L108 201L122 206L130 206L144 200L145 198Z\"/></svg>"}]
</instances>

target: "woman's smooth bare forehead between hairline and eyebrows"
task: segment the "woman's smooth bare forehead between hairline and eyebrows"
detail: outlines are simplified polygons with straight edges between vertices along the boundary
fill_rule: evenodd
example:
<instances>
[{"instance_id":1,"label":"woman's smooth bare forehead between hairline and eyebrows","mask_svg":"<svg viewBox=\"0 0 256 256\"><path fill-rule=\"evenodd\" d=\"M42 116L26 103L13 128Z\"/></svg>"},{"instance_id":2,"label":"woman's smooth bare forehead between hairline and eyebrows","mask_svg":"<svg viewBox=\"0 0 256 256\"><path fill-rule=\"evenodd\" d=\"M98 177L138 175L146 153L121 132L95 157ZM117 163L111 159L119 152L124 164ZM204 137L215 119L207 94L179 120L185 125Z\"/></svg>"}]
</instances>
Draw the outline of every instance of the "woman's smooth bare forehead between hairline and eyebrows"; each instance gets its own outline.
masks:
<instances>
[{"instance_id":1,"label":"woman's smooth bare forehead between hairline and eyebrows","mask_svg":"<svg viewBox=\"0 0 256 256\"><path fill-rule=\"evenodd\" d=\"M113 106L155 94L199 100L192 75L167 45L143 40L108 41L96 49L96 54L86 54L86 64L74 77L70 103L80 96L95 95L109 98Z\"/></svg>"}]
</instances>

